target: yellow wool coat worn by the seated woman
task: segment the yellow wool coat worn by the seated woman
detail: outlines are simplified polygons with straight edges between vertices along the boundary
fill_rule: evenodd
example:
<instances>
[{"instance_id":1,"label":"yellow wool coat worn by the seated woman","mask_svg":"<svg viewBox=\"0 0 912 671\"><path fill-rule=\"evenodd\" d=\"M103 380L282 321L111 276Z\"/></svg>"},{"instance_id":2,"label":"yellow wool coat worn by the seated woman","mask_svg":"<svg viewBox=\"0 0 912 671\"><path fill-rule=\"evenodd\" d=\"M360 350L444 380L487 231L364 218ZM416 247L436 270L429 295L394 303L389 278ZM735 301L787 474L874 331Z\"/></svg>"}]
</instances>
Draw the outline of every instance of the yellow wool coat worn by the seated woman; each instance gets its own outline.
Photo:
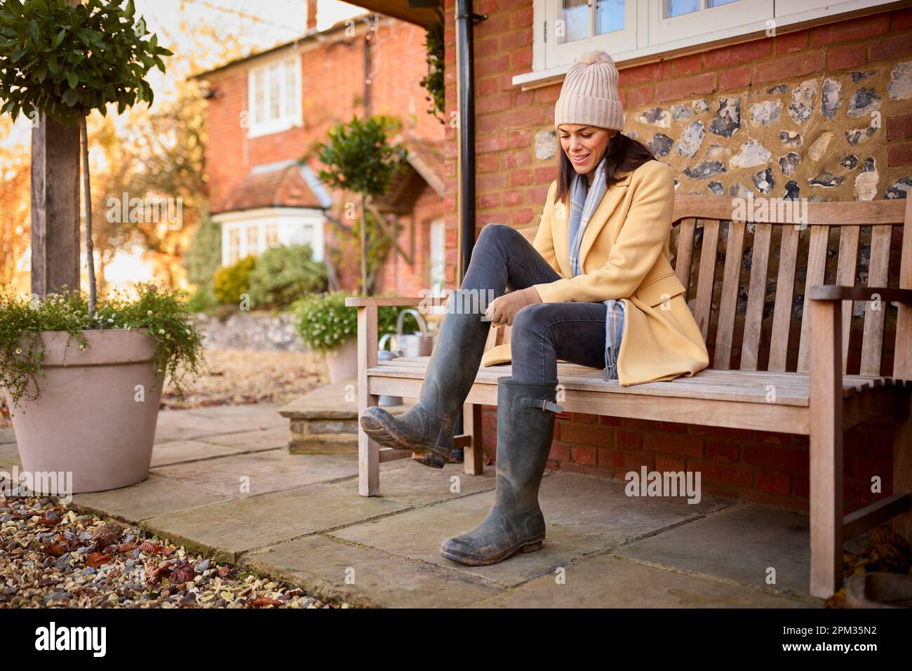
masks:
<instances>
[{"instance_id":1,"label":"yellow wool coat worn by the seated woman","mask_svg":"<svg viewBox=\"0 0 912 671\"><path fill-rule=\"evenodd\" d=\"M624 299L625 322L617 352L622 386L690 376L710 364L706 343L671 267L668 236L674 207L671 168L648 161L609 187L586 225L580 275L567 249L569 201L554 203L551 184L533 246L560 274L536 284L544 303ZM485 353L483 365L510 361L509 345Z\"/></svg>"}]
</instances>

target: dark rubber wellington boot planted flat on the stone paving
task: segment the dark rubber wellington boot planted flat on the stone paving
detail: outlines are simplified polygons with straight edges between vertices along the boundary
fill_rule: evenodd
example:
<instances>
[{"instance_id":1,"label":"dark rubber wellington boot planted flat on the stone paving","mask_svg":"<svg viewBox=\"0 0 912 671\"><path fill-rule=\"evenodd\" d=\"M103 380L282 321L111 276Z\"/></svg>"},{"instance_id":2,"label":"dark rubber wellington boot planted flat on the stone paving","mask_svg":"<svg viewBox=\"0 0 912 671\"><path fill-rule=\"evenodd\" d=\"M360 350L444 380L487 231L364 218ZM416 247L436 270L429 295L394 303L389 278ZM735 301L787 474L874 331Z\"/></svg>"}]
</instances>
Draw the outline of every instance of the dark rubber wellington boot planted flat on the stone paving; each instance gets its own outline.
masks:
<instances>
[{"instance_id":1,"label":"dark rubber wellington boot planted flat on the stone paving","mask_svg":"<svg viewBox=\"0 0 912 671\"><path fill-rule=\"evenodd\" d=\"M495 503L482 523L461 536L444 540L440 554L479 566L503 561L515 552L540 550L544 515L538 488L551 451L557 381L497 381L497 477Z\"/></svg>"}]
</instances>

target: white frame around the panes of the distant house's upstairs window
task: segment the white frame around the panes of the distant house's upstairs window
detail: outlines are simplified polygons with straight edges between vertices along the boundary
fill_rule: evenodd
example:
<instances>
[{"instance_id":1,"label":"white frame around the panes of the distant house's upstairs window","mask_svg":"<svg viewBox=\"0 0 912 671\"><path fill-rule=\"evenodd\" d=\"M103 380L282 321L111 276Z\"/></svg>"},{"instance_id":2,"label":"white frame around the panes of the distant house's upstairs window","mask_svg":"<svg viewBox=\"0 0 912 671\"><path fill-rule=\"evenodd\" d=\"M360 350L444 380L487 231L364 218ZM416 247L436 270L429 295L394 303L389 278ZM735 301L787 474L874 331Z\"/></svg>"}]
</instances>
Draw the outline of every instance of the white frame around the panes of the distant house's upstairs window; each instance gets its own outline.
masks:
<instances>
[{"instance_id":1,"label":"white frame around the panes of the distant house's upstairs window","mask_svg":"<svg viewBox=\"0 0 912 671\"><path fill-rule=\"evenodd\" d=\"M278 68L276 76L279 79L279 116L270 118L269 110L272 108L270 91L272 90L272 78L276 67ZM292 73L292 86L294 88L290 92L287 86L289 69ZM264 118L262 119L257 113L255 86L256 78L260 75L263 77L264 89ZM301 99L301 55L296 51L281 58L271 58L262 65L250 68L247 73L247 137L260 137L261 135L287 131L295 126L304 125ZM289 102L291 102L290 110Z\"/></svg>"}]
</instances>

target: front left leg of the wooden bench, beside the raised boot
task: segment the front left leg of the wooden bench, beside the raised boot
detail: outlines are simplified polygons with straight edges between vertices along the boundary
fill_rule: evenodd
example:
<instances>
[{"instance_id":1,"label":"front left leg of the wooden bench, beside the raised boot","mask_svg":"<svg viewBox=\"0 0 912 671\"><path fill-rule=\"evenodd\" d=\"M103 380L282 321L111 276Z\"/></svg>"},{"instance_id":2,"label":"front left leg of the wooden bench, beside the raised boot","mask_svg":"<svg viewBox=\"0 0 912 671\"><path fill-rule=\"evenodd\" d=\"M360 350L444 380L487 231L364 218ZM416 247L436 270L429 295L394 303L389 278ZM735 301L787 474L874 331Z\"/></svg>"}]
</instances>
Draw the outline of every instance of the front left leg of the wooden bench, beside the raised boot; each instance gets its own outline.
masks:
<instances>
[{"instance_id":1,"label":"front left leg of the wooden bench, beside the raised boot","mask_svg":"<svg viewBox=\"0 0 912 671\"><path fill-rule=\"evenodd\" d=\"M377 306L358 308L358 418L379 403L368 393L368 368L377 365ZM368 438L358 422L358 494L376 497L380 493L380 446Z\"/></svg>"}]
</instances>

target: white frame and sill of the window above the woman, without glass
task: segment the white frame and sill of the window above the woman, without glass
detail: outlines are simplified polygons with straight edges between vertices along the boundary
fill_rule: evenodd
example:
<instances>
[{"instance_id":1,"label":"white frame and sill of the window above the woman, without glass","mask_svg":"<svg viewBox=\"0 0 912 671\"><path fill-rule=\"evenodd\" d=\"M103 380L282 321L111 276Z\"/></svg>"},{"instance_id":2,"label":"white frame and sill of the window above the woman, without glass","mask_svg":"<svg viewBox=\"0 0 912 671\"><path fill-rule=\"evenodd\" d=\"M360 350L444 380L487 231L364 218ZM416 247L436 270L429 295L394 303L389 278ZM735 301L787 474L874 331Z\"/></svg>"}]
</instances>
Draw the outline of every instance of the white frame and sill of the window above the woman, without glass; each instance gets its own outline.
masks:
<instances>
[{"instance_id":1,"label":"white frame and sill of the window above the woman, without glass","mask_svg":"<svg viewBox=\"0 0 912 671\"><path fill-rule=\"evenodd\" d=\"M701 4L705 7L706 0ZM654 62L660 55L682 56L744 41L767 33L772 26L782 34L788 32L786 28L816 25L820 19L839 20L849 12L871 14L893 4L891 0L740 0L666 19L661 16L662 0L627 0L627 15L636 10L636 20L633 24L626 20L623 31L559 45L554 22L561 16L563 0L533 0L532 71L515 75L513 85L534 89L560 82L575 59L592 49L607 51L618 67L638 65ZM631 25L636 26L635 46L625 48L631 44L627 35Z\"/></svg>"}]
</instances>

